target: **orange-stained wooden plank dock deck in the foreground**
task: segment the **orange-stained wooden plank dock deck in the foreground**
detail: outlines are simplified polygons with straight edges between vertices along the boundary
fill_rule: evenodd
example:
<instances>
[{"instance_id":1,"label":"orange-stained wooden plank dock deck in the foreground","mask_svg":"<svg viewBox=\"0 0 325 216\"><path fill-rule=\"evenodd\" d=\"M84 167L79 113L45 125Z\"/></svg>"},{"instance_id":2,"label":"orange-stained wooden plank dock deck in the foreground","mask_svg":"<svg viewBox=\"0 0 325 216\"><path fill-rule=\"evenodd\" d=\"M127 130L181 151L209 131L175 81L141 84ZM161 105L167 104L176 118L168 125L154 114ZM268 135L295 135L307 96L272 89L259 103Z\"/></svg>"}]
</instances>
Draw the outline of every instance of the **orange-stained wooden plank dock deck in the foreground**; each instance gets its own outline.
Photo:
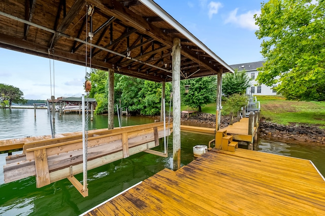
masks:
<instances>
[{"instance_id":1,"label":"orange-stained wooden plank dock deck in the foreground","mask_svg":"<svg viewBox=\"0 0 325 216\"><path fill-rule=\"evenodd\" d=\"M84 215L325 215L324 197L325 182L309 160L213 149Z\"/></svg>"}]
</instances>

